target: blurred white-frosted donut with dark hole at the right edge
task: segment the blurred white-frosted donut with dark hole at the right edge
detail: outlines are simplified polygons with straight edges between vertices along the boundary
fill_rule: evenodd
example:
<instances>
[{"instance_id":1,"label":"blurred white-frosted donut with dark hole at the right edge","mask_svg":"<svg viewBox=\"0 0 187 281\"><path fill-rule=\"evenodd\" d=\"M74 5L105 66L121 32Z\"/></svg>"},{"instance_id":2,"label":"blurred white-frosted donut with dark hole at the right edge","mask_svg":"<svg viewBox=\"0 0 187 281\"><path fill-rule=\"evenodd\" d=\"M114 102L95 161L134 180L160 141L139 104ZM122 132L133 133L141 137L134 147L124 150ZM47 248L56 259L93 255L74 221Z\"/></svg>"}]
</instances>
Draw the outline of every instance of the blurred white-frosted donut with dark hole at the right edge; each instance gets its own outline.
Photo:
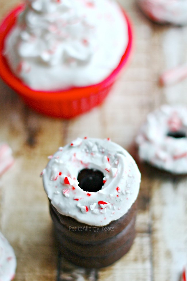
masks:
<instances>
[{"instance_id":1,"label":"blurred white-frosted donut with dark hole at the right edge","mask_svg":"<svg viewBox=\"0 0 187 281\"><path fill-rule=\"evenodd\" d=\"M175 174L187 173L187 108L163 105L148 114L136 142L139 156Z\"/></svg>"}]
</instances>

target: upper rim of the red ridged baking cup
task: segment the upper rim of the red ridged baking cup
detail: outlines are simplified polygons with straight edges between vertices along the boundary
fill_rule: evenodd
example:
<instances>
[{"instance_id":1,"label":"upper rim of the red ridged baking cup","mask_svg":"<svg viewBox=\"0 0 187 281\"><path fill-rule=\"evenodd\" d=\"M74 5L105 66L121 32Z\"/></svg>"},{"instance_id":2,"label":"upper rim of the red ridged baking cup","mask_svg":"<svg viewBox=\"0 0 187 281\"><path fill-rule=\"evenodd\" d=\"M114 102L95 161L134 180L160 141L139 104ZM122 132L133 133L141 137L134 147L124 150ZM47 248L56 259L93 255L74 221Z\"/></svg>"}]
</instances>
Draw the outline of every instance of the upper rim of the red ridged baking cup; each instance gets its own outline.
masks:
<instances>
[{"instance_id":1,"label":"upper rim of the red ridged baking cup","mask_svg":"<svg viewBox=\"0 0 187 281\"><path fill-rule=\"evenodd\" d=\"M4 39L9 33L9 31L12 29L16 22L16 17L22 10L24 9L24 5L19 5L16 7L12 12L8 14L8 16L3 20L3 22L0 25L0 76L4 80L6 84L8 84L11 88L13 88L17 93L19 93L22 96L25 97L31 97L36 99L61 99L61 100L74 100L77 98L83 98L90 95L90 93L97 93L100 92L100 90L110 86L116 79L117 74L120 72L122 67L127 62L129 55L131 53L132 49L132 28L131 23L129 21L129 18L127 17L125 11L122 9L122 12L125 16L125 19L127 21L128 26L128 34L129 34L129 42L127 44L127 48L125 50L125 53L123 54L121 61L119 65L117 66L114 71L102 82L91 85L91 86L85 86L85 87L74 87L66 90L59 90L59 91L38 91L38 90L32 90L23 82L18 79L10 70L9 66L7 65L7 61L3 55L3 47L4 47Z\"/></svg>"}]
</instances>

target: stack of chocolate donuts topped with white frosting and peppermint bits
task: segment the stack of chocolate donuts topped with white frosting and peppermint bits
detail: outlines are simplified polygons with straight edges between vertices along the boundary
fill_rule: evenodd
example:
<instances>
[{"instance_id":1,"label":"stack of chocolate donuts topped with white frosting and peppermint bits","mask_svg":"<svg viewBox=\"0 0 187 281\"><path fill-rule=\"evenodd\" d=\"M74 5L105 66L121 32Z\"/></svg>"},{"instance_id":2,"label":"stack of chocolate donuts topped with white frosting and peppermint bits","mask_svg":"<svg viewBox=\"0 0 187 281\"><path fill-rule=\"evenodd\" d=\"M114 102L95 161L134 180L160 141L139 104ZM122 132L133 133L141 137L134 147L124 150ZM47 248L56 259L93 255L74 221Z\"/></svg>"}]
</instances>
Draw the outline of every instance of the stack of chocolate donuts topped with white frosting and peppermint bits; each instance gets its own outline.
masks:
<instances>
[{"instance_id":1,"label":"stack of chocolate donuts topped with white frosting and peppermint bits","mask_svg":"<svg viewBox=\"0 0 187 281\"><path fill-rule=\"evenodd\" d=\"M138 167L110 139L76 139L42 172L59 249L83 267L121 258L135 237Z\"/></svg>"}]
</instances>

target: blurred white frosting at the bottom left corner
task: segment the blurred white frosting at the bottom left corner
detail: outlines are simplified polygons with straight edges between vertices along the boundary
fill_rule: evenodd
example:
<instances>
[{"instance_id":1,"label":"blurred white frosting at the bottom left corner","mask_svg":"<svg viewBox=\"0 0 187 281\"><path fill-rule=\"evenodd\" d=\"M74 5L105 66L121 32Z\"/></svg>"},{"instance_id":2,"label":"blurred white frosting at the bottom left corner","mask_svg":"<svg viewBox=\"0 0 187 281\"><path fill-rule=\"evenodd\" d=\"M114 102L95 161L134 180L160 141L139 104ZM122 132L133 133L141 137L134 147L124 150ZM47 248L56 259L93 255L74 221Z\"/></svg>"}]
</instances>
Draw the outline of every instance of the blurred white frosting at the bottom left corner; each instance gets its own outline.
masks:
<instances>
[{"instance_id":1,"label":"blurred white frosting at the bottom left corner","mask_svg":"<svg viewBox=\"0 0 187 281\"><path fill-rule=\"evenodd\" d=\"M0 280L10 281L16 271L16 256L12 246L0 232Z\"/></svg>"}]
</instances>

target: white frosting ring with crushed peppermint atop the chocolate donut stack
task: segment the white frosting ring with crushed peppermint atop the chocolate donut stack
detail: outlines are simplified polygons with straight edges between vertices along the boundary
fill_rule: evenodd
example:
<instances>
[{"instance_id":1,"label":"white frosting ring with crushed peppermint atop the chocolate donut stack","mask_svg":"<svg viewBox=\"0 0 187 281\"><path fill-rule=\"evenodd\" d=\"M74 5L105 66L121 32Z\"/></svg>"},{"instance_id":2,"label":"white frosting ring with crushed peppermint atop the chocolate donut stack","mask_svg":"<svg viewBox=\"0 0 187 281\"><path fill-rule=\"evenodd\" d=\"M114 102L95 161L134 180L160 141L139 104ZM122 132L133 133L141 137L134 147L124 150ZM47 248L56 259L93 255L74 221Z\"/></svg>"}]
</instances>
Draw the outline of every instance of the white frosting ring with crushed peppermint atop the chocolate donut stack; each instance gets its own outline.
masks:
<instances>
[{"instance_id":1,"label":"white frosting ring with crushed peppermint atop the chocolate donut stack","mask_svg":"<svg viewBox=\"0 0 187 281\"><path fill-rule=\"evenodd\" d=\"M50 158L42 172L43 185L60 214L103 226L123 216L137 199L140 171L131 155L109 139L78 138ZM79 187L77 176L85 168L102 171L101 190Z\"/></svg>"}]
</instances>

